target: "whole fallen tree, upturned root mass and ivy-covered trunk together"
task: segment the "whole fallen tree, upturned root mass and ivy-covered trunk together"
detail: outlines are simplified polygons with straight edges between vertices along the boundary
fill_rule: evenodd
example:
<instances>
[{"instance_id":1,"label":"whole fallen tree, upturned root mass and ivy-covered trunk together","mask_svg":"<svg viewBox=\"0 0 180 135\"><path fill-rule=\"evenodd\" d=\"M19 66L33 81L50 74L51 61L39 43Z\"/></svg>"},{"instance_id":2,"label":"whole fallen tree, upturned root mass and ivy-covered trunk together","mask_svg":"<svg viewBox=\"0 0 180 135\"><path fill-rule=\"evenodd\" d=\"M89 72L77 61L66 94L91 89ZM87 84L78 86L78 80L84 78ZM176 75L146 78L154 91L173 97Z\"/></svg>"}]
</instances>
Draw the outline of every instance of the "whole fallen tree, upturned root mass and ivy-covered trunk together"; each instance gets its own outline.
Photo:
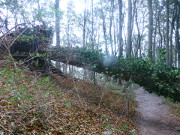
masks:
<instances>
[{"instance_id":1,"label":"whole fallen tree, upturned root mass and ivy-covered trunk together","mask_svg":"<svg viewBox=\"0 0 180 135\"><path fill-rule=\"evenodd\" d=\"M13 32L8 36L14 38L17 34L18 32ZM10 52L14 58L27 58L27 61L31 59L30 63L39 69L52 71L50 60L60 61L115 78L131 79L149 92L180 101L180 73L177 68L168 68L164 64L155 64L142 58L105 55L100 50L88 48L53 47L49 49L50 41L51 31L48 32L39 27L28 28L17 40L13 40ZM5 43L1 42L0 46L8 46ZM57 71L57 69L53 70ZM60 71L58 72L61 74Z\"/></svg>"}]
</instances>

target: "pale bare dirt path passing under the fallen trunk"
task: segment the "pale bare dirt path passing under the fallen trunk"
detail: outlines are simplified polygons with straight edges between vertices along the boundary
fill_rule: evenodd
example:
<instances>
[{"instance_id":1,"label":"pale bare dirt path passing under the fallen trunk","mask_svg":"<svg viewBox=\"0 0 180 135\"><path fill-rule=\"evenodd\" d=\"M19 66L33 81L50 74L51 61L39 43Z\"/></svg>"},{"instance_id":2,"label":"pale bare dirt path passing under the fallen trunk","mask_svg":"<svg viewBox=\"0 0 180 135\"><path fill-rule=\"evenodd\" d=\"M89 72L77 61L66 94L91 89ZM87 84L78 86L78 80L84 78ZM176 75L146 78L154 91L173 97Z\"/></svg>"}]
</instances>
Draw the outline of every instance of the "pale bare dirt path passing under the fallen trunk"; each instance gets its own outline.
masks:
<instances>
[{"instance_id":1,"label":"pale bare dirt path passing under the fallen trunk","mask_svg":"<svg viewBox=\"0 0 180 135\"><path fill-rule=\"evenodd\" d=\"M180 121L162 99L143 88L135 90L138 102L136 121L141 135L180 135Z\"/></svg>"}]
</instances>

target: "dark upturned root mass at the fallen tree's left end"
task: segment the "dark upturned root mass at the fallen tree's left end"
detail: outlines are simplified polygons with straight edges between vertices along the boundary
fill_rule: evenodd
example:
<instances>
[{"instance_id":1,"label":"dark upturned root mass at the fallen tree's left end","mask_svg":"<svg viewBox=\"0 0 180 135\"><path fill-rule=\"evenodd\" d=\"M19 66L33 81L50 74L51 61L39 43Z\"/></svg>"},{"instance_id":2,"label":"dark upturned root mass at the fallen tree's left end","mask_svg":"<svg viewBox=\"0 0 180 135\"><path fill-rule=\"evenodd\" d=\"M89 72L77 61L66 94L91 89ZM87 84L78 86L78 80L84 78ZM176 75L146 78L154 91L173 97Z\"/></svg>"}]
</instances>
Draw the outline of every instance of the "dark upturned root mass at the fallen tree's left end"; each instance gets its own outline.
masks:
<instances>
[{"instance_id":1,"label":"dark upturned root mass at the fallen tree's left end","mask_svg":"<svg viewBox=\"0 0 180 135\"><path fill-rule=\"evenodd\" d=\"M0 37L0 49L14 54L39 53L52 41L52 28L24 26Z\"/></svg>"}]
</instances>

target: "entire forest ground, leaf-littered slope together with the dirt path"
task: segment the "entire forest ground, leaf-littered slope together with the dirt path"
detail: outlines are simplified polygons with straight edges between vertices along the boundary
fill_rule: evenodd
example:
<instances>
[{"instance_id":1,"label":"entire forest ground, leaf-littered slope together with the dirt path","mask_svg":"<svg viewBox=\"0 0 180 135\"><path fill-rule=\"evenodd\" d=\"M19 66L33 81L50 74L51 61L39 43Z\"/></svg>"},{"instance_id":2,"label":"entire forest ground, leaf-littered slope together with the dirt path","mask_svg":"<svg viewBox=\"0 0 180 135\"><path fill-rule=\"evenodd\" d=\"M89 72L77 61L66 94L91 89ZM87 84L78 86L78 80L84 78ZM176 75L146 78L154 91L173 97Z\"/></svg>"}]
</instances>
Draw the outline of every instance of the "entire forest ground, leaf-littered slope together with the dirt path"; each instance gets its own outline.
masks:
<instances>
[{"instance_id":1,"label":"entire forest ground, leaf-littered slope together with the dirt path","mask_svg":"<svg viewBox=\"0 0 180 135\"><path fill-rule=\"evenodd\" d=\"M94 87L87 80L16 66L0 56L0 134L180 134L180 117L142 88L135 90L138 113L131 97L126 117L125 95L115 84ZM133 121L136 114L140 133Z\"/></svg>"}]
</instances>

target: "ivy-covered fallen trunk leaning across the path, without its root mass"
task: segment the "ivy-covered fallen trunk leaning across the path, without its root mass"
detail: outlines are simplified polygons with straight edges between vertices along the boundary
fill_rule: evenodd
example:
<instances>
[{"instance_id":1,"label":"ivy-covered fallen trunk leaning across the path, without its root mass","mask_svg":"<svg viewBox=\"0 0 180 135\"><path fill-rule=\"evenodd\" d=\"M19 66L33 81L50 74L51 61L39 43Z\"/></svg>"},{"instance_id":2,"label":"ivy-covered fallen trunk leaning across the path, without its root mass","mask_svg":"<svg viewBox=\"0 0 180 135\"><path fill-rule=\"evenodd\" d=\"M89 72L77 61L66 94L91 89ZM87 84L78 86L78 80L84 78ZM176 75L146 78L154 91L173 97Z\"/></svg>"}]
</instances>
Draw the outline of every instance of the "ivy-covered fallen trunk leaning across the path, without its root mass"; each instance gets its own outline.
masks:
<instances>
[{"instance_id":1,"label":"ivy-covered fallen trunk leaning across the path, without its root mass","mask_svg":"<svg viewBox=\"0 0 180 135\"><path fill-rule=\"evenodd\" d=\"M88 68L124 80L131 79L145 90L180 101L180 73L177 68L142 58L122 58L87 48L52 48L52 60Z\"/></svg>"}]
</instances>

